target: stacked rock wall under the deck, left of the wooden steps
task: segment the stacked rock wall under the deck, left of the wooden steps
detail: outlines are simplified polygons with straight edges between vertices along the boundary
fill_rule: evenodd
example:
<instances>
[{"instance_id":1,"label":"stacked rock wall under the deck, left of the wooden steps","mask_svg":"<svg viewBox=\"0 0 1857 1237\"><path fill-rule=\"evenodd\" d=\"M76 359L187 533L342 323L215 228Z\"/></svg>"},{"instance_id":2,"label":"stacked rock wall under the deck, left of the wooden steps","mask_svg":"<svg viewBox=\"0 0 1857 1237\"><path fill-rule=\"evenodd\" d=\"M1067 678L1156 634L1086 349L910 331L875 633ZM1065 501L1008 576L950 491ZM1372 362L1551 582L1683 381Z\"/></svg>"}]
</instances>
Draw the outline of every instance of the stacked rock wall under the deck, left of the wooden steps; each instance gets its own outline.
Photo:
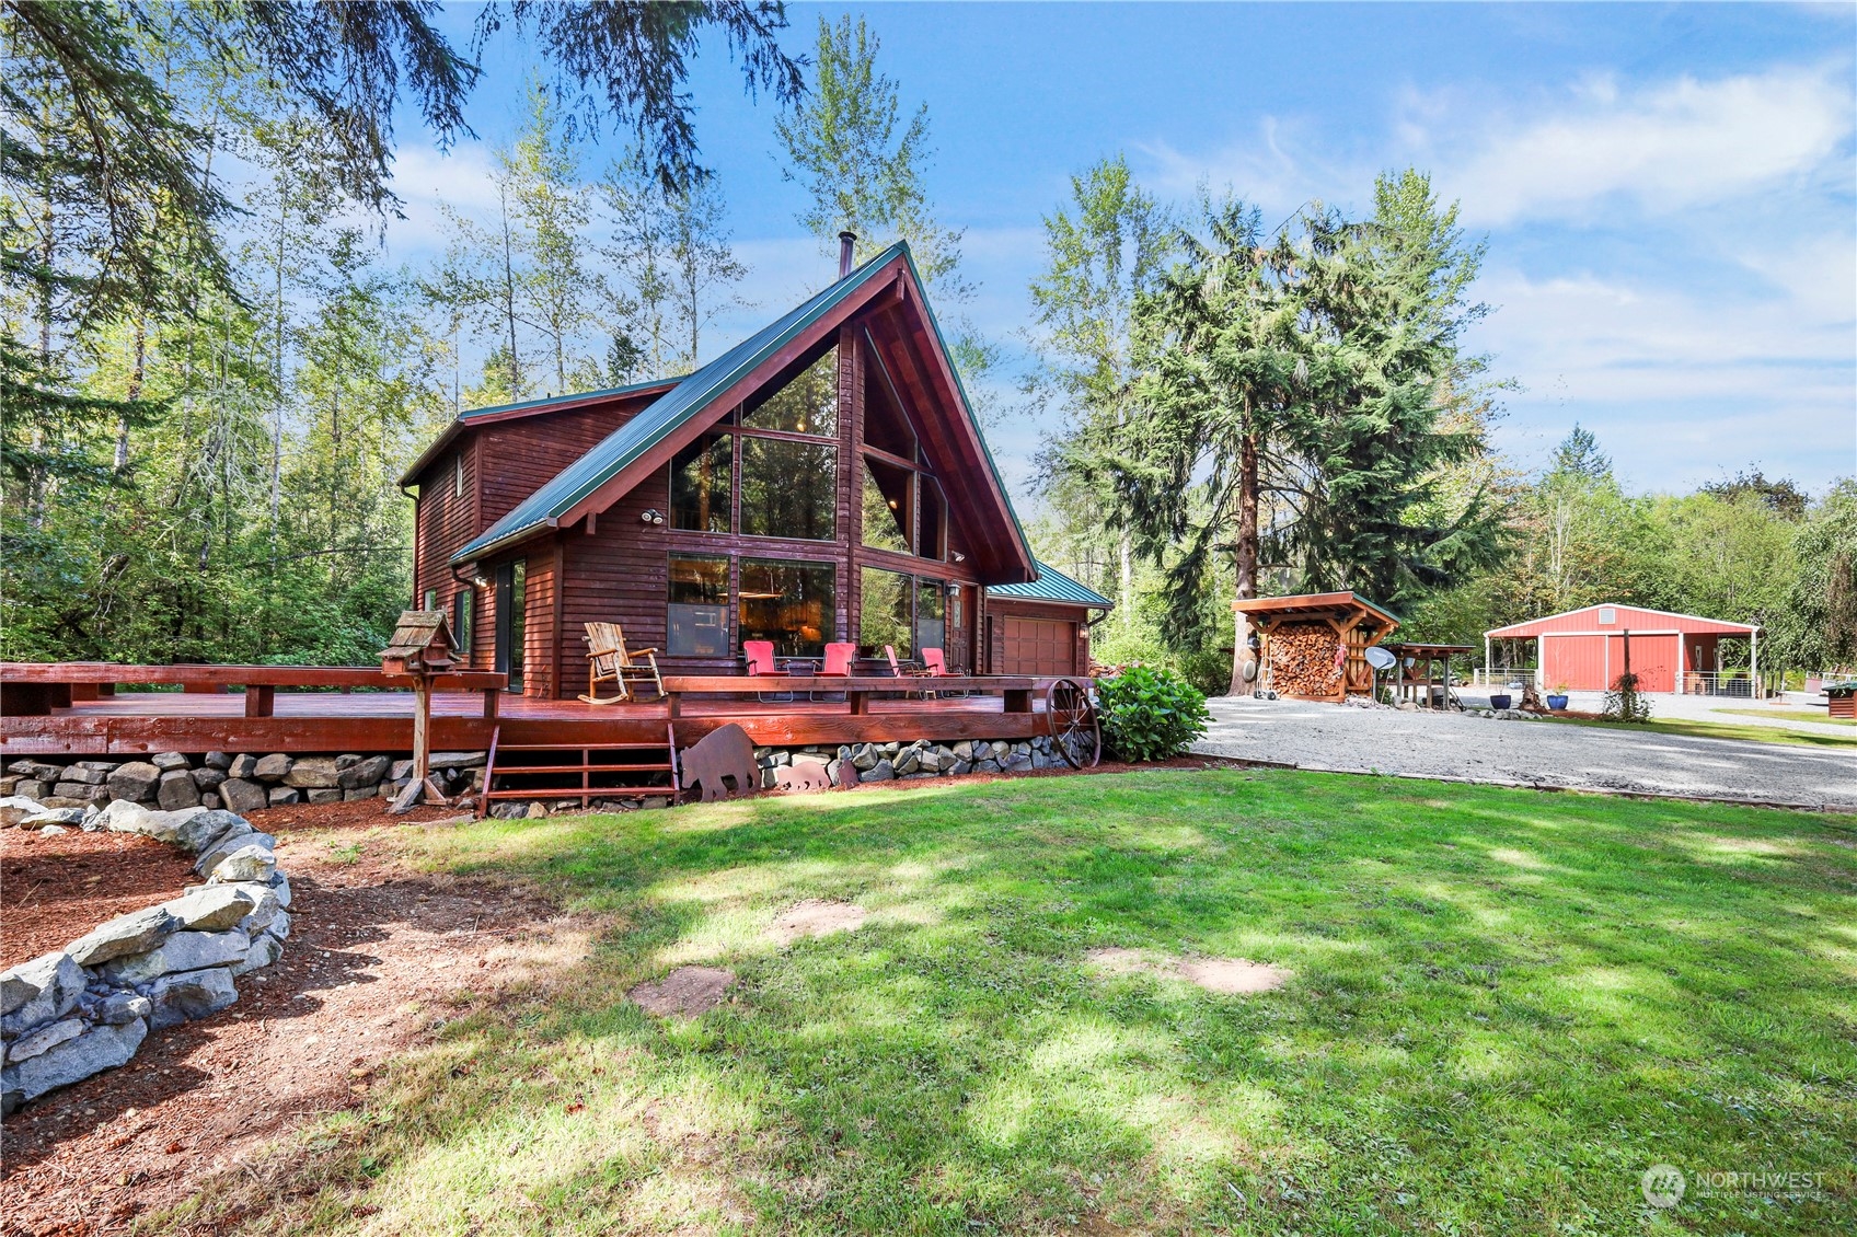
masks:
<instances>
[{"instance_id":1,"label":"stacked rock wall under the deck, left of the wooden steps","mask_svg":"<svg viewBox=\"0 0 1857 1237\"><path fill-rule=\"evenodd\" d=\"M459 795L479 788L485 752L433 752L431 767ZM48 808L85 808L113 801L163 812L228 808L258 812L295 802L392 799L412 776L410 760L394 756L269 756L206 752L188 758L160 752L147 760L15 760L0 775L0 795L20 795Z\"/></svg>"}]
</instances>

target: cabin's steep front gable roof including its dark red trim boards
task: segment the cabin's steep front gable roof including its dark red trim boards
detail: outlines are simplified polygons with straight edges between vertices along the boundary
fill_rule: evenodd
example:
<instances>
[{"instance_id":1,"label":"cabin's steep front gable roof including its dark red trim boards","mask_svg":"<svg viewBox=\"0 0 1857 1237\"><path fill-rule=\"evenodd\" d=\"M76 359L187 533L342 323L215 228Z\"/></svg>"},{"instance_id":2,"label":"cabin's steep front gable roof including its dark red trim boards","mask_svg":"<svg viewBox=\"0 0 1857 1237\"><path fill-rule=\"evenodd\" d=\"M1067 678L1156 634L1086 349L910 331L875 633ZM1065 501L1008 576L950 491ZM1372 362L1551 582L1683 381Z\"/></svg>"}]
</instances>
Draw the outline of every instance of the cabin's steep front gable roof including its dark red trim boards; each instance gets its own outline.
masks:
<instances>
[{"instance_id":1,"label":"cabin's steep front gable roof including its dark red trim boards","mask_svg":"<svg viewBox=\"0 0 1857 1237\"><path fill-rule=\"evenodd\" d=\"M823 340L836 338L851 314L871 306L886 292L897 295L897 305L890 312L908 312L914 306L925 319L934 342L934 347L928 349L936 353L932 360L949 379L943 394L953 397L958 410L958 416L949 420L956 422L954 433L966 438L966 442L951 446L969 448L969 453L982 466L986 498L1003 516L1006 553L992 565L993 570L988 574L999 578L1001 583L1032 579L1036 568L1025 533L1012 511L1012 501L999 479L986 440L975 429L971 403L960 386L958 373L947 360L945 340L934 319L934 310L921 295L921 277L914 258L908 245L901 241L680 381L453 553L451 565L474 563L544 529L563 527L581 516L604 511L648 474L665 466L676 451L743 397L771 383ZM975 546L975 552L979 550L980 546Z\"/></svg>"}]
</instances>

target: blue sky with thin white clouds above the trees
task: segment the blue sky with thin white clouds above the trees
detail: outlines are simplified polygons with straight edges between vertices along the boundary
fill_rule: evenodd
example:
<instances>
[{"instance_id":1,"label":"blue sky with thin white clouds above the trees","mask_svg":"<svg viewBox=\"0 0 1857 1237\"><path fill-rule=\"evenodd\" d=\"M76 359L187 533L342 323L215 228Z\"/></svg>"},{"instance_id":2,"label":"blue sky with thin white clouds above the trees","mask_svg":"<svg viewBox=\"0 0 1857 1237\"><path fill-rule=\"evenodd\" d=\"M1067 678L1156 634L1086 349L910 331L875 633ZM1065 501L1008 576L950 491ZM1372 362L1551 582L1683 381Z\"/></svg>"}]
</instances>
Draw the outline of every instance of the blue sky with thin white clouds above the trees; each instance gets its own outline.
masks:
<instances>
[{"instance_id":1,"label":"blue sky with thin white clouds above the trees","mask_svg":"<svg viewBox=\"0 0 1857 1237\"><path fill-rule=\"evenodd\" d=\"M789 6L789 50L819 15ZM858 9L852 9L858 11ZM1068 176L1125 152L1164 199L1231 186L1268 221L1361 206L1417 165L1489 241L1474 347L1517 381L1497 444L1538 466L1580 422L1636 488L1747 464L1822 490L1857 472L1857 7L877 4L880 67L927 102L940 219L966 228L966 306L1029 325L1040 219ZM472 9L448 22L468 35ZM479 143L401 132L394 258L442 247L435 199L483 208L488 143L518 123L527 48L487 50ZM830 275L780 176L774 110L719 43L693 72L698 134L730 202L756 308L706 351ZM589 150L589 162L605 152ZM1042 425L995 453L1023 492Z\"/></svg>"}]
</instances>

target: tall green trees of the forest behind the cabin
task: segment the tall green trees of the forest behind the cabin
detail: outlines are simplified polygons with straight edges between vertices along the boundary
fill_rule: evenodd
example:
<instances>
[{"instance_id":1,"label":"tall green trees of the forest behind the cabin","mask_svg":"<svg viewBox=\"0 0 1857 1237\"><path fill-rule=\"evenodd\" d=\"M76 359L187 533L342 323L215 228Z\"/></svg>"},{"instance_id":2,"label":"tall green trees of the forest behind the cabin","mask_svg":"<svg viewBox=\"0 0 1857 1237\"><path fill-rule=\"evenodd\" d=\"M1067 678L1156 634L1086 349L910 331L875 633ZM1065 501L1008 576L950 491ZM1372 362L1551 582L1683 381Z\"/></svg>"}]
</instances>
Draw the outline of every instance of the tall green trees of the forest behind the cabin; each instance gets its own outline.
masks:
<instances>
[{"instance_id":1,"label":"tall green trees of the forest behind the cabin","mask_svg":"<svg viewBox=\"0 0 1857 1237\"><path fill-rule=\"evenodd\" d=\"M1359 217L1311 202L1266 228L1242 184L1168 201L1105 152L1051 202L999 340L927 189L930 115L862 19L487 9L481 37L546 69L496 210L388 266L394 106L461 132L472 48L290 6L48 7L0 28L9 659L370 663L409 602L397 477L446 422L726 345L748 267L678 93L709 37L776 117L795 227L908 240L982 422L1036 422L1029 531L1118 600L1101 659L1222 687L1233 596L1354 587L1408 639L1608 600L1759 622L1794 669L1857 661L1850 479L1807 494L1725 457L1638 494L1603 431L1536 470L1495 449L1512 384L1461 342L1484 249L1419 171Z\"/></svg>"}]
</instances>

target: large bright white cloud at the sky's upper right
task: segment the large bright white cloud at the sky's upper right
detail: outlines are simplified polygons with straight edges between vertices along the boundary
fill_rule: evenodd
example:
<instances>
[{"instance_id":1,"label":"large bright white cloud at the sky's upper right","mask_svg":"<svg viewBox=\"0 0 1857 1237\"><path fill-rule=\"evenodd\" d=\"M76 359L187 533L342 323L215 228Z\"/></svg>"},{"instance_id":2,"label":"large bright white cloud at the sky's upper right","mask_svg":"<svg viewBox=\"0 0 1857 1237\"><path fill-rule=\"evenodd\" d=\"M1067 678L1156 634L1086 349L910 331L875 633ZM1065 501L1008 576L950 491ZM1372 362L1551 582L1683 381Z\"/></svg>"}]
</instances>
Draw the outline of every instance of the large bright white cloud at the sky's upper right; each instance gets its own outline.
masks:
<instances>
[{"instance_id":1,"label":"large bright white cloud at the sky's upper right","mask_svg":"<svg viewBox=\"0 0 1857 1237\"><path fill-rule=\"evenodd\" d=\"M1850 137L1851 119L1848 84L1822 69L1638 91L1597 78L1558 115L1445 136L1441 184L1480 225L1584 217L1621 197L1666 214L1812 175ZM1413 124L1413 136L1435 137L1437 123ZM1452 149L1463 154L1450 158Z\"/></svg>"}]
</instances>

